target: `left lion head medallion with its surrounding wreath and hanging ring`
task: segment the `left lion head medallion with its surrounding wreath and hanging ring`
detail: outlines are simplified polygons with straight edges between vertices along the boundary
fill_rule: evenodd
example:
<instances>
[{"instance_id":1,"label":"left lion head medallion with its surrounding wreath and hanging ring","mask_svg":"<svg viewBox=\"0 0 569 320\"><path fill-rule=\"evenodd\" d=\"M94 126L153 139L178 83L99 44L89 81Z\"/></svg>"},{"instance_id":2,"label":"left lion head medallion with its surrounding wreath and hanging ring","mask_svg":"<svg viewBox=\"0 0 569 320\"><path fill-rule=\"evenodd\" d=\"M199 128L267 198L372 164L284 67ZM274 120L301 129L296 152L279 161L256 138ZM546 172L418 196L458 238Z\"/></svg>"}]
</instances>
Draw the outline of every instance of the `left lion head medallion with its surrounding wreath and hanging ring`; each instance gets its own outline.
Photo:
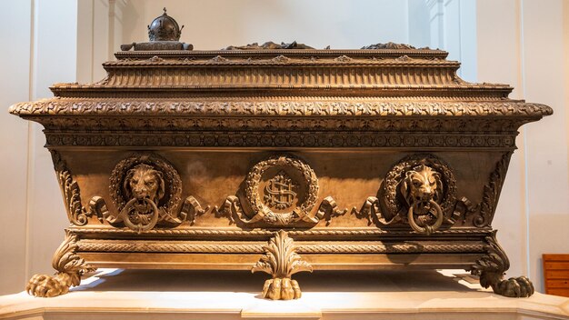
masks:
<instances>
[{"instance_id":1,"label":"left lion head medallion with its surrounding wreath and hanging ring","mask_svg":"<svg viewBox=\"0 0 569 320\"><path fill-rule=\"evenodd\" d=\"M157 224L180 225L182 181L174 166L155 154L135 154L111 173L111 195L119 214L106 215L115 225L123 222L141 233Z\"/></svg>"}]
</instances>

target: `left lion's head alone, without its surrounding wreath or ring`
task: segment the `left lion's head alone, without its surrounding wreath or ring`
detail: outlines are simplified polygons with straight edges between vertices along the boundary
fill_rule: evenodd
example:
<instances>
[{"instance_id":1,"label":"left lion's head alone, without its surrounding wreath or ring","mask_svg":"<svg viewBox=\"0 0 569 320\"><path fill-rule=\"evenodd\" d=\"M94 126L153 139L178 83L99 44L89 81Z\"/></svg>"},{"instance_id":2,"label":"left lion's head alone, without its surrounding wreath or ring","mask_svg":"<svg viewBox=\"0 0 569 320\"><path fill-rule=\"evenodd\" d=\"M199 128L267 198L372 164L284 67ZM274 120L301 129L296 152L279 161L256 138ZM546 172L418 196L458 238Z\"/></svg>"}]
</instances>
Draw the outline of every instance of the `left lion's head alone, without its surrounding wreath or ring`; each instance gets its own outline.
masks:
<instances>
[{"instance_id":1,"label":"left lion's head alone, without its surrounding wreath or ring","mask_svg":"<svg viewBox=\"0 0 569 320\"><path fill-rule=\"evenodd\" d=\"M123 192L127 199L149 199L158 205L165 195L164 177L151 165L136 165L126 173Z\"/></svg>"}]
</instances>

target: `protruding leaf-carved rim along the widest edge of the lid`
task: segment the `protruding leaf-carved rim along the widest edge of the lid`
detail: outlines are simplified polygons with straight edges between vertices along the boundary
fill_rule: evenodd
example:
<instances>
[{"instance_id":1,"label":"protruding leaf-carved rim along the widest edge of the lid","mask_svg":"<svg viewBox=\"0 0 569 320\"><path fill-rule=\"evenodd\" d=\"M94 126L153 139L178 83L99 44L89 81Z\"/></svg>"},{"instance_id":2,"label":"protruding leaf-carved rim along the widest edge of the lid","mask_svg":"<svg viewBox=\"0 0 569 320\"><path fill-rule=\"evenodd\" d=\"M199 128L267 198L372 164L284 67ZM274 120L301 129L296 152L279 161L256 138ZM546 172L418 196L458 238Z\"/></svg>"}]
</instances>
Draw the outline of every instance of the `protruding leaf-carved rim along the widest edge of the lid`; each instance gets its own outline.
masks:
<instances>
[{"instance_id":1,"label":"protruding leaf-carved rim along the widest edge of the lid","mask_svg":"<svg viewBox=\"0 0 569 320\"><path fill-rule=\"evenodd\" d=\"M514 102L368 102L368 101L129 101L52 99L10 106L13 115L552 115L547 105Z\"/></svg>"}]
</instances>

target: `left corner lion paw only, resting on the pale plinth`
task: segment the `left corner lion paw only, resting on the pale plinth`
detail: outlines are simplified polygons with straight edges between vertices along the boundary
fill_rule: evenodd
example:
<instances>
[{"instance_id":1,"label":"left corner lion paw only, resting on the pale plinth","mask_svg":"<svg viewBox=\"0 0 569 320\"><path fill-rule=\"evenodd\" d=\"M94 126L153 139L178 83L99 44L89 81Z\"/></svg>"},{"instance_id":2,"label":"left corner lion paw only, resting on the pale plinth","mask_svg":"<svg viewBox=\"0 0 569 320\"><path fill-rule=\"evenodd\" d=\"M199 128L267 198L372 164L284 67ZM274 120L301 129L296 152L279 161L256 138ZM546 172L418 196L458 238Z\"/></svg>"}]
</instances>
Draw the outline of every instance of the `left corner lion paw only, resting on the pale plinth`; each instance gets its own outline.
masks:
<instances>
[{"instance_id":1,"label":"left corner lion paw only, resting on the pale plinth","mask_svg":"<svg viewBox=\"0 0 569 320\"><path fill-rule=\"evenodd\" d=\"M34 275L25 285L25 291L29 295L39 297L65 295L69 292L70 286L79 285L79 280L79 275L66 273L57 273L54 276Z\"/></svg>"}]
</instances>

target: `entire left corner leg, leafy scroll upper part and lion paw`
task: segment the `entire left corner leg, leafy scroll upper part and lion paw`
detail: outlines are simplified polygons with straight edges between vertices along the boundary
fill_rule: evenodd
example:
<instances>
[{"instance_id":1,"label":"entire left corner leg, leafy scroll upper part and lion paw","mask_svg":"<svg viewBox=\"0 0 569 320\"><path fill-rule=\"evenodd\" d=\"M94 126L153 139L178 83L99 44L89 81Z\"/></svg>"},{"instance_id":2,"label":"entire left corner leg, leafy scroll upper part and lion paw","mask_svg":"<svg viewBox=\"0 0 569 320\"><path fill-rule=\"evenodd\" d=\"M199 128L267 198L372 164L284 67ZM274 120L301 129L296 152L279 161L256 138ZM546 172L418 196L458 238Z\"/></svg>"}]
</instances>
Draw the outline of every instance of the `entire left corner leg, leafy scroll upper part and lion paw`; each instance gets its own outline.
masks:
<instances>
[{"instance_id":1,"label":"entire left corner leg, leafy scroll upper part and lion paw","mask_svg":"<svg viewBox=\"0 0 569 320\"><path fill-rule=\"evenodd\" d=\"M52 297L64 295L69 287L79 285L81 275L94 271L95 268L87 265L75 252L77 250L76 235L65 236L64 242L55 251L52 265L56 270L54 276L34 275L25 285L29 295Z\"/></svg>"}]
</instances>

